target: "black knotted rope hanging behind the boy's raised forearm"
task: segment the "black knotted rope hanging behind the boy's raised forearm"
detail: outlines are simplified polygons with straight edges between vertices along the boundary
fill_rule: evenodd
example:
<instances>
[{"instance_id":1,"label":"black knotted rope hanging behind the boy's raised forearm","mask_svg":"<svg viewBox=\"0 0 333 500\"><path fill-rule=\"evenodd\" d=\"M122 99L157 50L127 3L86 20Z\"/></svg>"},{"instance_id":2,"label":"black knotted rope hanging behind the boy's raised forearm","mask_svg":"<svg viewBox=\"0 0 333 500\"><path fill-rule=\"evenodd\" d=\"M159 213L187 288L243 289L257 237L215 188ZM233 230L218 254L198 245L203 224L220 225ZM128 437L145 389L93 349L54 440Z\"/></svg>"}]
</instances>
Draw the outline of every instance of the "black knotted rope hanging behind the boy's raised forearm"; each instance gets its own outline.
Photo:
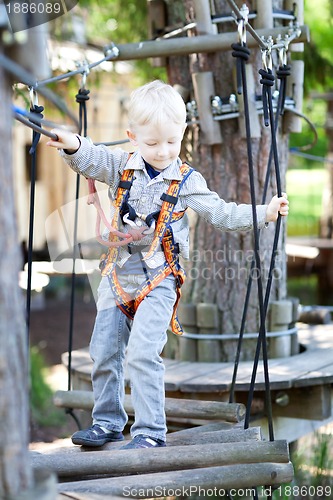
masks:
<instances>
[{"instance_id":1,"label":"black knotted rope hanging behind the boy's raised forearm","mask_svg":"<svg viewBox=\"0 0 333 500\"><path fill-rule=\"evenodd\" d=\"M79 134L83 133L84 137L87 136L87 106L86 102L89 100L90 90L85 88L80 89L76 95L76 102L79 103ZM80 245L77 242L77 228L79 217L79 195L80 195L80 174L76 175L76 188L75 188L75 212L74 212L74 230L73 230L73 267L71 273L71 301L70 301L70 315L69 315L69 335L68 335L68 391L72 388L72 351L73 351L73 337L74 337L74 310L75 310L75 295L76 295L76 272L75 262L77 249L81 255ZM78 428L81 429L80 421L75 416L72 408L66 408L66 413L71 415Z\"/></svg>"}]
</instances>

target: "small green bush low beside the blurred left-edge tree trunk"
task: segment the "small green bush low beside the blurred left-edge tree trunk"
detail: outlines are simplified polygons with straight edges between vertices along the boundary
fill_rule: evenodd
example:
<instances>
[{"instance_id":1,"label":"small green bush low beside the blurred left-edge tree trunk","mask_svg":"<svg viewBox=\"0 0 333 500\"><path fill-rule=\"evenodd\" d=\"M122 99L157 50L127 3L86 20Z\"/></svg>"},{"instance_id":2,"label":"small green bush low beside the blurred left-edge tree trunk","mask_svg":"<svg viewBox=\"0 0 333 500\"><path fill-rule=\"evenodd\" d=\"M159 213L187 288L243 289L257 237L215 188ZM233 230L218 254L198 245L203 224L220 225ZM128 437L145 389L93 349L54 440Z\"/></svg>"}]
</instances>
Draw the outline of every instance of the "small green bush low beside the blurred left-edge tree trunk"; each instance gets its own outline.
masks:
<instances>
[{"instance_id":1,"label":"small green bush low beside the blurred left-edge tree trunk","mask_svg":"<svg viewBox=\"0 0 333 500\"><path fill-rule=\"evenodd\" d=\"M60 425L64 422L63 412L52 402L53 392L46 382L46 366L38 347L30 349L30 408L32 421L41 426Z\"/></svg>"}]
</instances>

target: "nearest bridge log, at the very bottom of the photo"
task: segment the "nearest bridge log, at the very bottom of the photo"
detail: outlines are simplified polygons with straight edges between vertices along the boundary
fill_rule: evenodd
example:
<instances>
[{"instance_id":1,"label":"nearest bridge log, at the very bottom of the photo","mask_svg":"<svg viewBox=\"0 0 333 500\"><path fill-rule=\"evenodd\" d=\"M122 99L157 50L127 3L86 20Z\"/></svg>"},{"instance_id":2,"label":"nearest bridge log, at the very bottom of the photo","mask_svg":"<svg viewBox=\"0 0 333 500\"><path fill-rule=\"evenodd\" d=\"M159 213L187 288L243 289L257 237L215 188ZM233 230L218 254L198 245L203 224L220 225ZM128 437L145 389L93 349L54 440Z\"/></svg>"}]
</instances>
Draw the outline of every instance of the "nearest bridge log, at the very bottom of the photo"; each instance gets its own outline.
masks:
<instances>
[{"instance_id":1,"label":"nearest bridge log, at the very bottom of the photo","mask_svg":"<svg viewBox=\"0 0 333 500\"><path fill-rule=\"evenodd\" d=\"M227 489L253 488L292 481L292 463L239 464L204 469L161 472L142 476L95 479L62 483L59 492L74 491L100 495L123 495L134 498L158 498L179 495L189 496L216 488L216 496L222 497ZM179 496L177 495L177 496Z\"/></svg>"}]
</instances>

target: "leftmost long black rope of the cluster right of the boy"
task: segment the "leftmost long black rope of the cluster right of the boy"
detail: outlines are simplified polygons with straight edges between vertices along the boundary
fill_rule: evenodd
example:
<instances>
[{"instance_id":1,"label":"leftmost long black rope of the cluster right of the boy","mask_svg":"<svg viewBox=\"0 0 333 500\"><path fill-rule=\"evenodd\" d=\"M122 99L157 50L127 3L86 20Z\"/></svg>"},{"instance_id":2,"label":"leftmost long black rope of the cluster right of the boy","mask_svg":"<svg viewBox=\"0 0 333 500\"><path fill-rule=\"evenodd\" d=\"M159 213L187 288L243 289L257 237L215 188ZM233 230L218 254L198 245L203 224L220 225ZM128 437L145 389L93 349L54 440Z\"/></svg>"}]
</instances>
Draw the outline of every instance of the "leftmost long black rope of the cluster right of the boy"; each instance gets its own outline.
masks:
<instances>
[{"instance_id":1,"label":"leftmost long black rope of the cluster right of the boy","mask_svg":"<svg viewBox=\"0 0 333 500\"><path fill-rule=\"evenodd\" d=\"M262 346L263 349L263 362L264 362L264 375L265 375L265 394L267 395L266 399L269 403L270 400L270 388L269 388L269 374L268 374L268 364L267 364L267 342L266 342L266 327L265 327L265 318L266 312L264 308L264 293L263 293L263 284L262 284L262 272L261 272L261 262L260 262L260 253L259 253L259 231L258 231L258 220L257 220L257 212L256 212L256 193L255 193L255 183L254 183L254 167L253 167L253 156L252 156L252 144L251 144L251 127L250 127L250 114L248 107L248 93L247 93L247 82L246 82L246 71L245 71L245 61L246 58L243 56L245 51L243 50L243 46L240 44L233 44L233 56L237 57L237 60L240 60L240 68L241 68L241 78L242 78L242 88L244 93L244 116L245 116L245 127L246 127L246 135L247 135L247 153L248 153L248 162L249 162L249 179L250 179L250 192L251 192L251 204L252 204L252 216L253 216L253 235L254 235L254 261L255 268L257 274L257 285L258 285L258 301L259 301L259 315L260 315L260 328L259 328L259 337L257 342L257 350L256 350L256 358L259 360L260 348ZM239 64L239 63L238 63ZM246 416L244 422L244 428L249 426L249 414L250 408L253 400L253 392L254 392L254 383L256 377L256 365L254 363L254 369L251 377L250 391L248 397L248 403L246 408ZM271 405L268 404L268 411ZM270 438L273 438L272 425L269 421L269 431ZM273 438L274 439L274 438Z\"/></svg>"}]
</instances>

